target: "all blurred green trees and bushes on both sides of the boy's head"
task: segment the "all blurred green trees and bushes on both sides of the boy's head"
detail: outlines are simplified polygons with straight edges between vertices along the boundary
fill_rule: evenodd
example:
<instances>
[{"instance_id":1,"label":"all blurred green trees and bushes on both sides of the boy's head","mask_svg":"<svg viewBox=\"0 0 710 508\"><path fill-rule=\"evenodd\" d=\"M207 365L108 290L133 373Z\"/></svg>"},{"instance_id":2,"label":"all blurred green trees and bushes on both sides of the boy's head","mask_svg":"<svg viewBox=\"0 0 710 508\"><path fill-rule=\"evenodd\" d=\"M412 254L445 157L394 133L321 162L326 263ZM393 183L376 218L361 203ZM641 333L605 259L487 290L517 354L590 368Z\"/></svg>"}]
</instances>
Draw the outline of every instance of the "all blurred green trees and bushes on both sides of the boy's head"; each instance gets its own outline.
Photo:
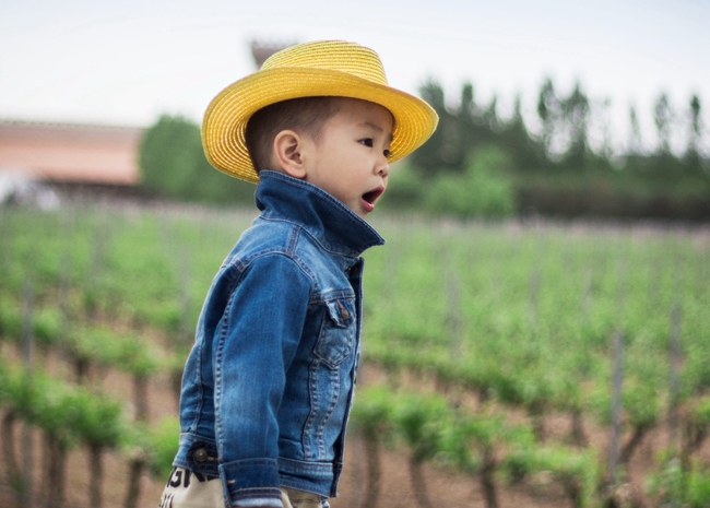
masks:
<instances>
[{"instance_id":1,"label":"all blurred green trees and bushes on both sides of the boy's head","mask_svg":"<svg viewBox=\"0 0 710 508\"><path fill-rule=\"evenodd\" d=\"M439 128L392 178L386 201L394 206L461 216L710 217L710 147L697 95L683 114L673 110L667 94L658 97L654 149L642 139L634 107L629 140L615 144L610 102L593 101L579 83L568 95L549 79L542 84L536 130L519 97L504 118L497 96L478 104L471 83L462 85L458 104L436 81L421 95L437 110ZM145 187L169 198L252 200L252 186L210 167L199 127L182 117L163 116L147 130L140 166Z\"/></svg>"}]
</instances>

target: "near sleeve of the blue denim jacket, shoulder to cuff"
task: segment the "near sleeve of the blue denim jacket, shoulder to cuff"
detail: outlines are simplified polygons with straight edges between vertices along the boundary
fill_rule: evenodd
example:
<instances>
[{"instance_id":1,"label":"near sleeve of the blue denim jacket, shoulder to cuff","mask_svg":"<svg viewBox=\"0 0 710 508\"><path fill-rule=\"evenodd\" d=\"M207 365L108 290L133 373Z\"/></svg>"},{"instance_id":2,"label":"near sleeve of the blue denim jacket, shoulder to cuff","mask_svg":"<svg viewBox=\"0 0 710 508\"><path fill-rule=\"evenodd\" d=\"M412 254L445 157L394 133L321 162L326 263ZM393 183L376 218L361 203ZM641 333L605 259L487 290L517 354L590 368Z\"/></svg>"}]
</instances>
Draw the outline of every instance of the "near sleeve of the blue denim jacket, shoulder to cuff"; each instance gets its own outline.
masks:
<instances>
[{"instance_id":1,"label":"near sleeve of the blue denim jacket, shoulder to cuff","mask_svg":"<svg viewBox=\"0 0 710 508\"><path fill-rule=\"evenodd\" d=\"M281 506L276 416L310 291L310 279L291 258L259 257L244 271L217 327L215 435L233 506Z\"/></svg>"}]
</instances>

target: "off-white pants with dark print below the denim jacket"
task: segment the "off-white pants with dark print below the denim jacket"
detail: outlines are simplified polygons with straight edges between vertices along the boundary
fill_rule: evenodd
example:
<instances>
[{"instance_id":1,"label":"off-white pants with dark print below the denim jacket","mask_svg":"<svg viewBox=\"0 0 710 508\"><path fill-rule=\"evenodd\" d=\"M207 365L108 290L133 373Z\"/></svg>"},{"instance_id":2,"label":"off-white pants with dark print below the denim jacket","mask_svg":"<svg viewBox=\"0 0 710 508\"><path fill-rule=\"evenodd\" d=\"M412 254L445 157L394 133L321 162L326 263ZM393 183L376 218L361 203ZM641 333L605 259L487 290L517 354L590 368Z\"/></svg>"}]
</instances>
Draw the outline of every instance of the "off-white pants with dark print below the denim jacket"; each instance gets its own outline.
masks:
<instances>
[{"instance_id":1,"label":"off-white pants with dark print below the denim jacket","mask_svg":"<svg viewBox=\"0 0 710 508\"><path fill-rule=\"evenodd\" d=\"M283 508L321 508L316 494L281 488ZM213 476L175 468L158 508L225 508L222 482ZM326 505L328 506L328 505ZM229 508L229 507L227 507Z\"/></svg>"}]
</instances>

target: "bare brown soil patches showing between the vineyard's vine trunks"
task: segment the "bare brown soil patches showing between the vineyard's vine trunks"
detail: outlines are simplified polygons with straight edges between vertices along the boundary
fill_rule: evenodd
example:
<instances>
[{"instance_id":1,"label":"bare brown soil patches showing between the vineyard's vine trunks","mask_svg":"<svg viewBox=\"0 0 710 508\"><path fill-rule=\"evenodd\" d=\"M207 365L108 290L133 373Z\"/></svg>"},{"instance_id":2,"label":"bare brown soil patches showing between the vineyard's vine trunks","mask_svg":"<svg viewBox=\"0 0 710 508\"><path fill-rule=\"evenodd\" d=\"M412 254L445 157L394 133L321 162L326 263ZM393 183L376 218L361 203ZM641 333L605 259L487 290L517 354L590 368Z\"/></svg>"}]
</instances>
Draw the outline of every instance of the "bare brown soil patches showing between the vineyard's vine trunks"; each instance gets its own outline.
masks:
<instances>
[{"instance_id":1,"label":"bare brown soil patches showing between the vineyard's vine trunks","mask_svg":"<svg viewBox=\"0 0 710 508\"><path fill-rule=\"evenodd\" d=\"M7 348L2 350L3 355ZM45 368L62 369L60 364L49 358ZM374 380L379 377L377 369L365 368L364 378ZM93 381L100 383L108 397L129 400L131 383L128 378L116 371L94 373ZM177 403L168 388L166 379L155 378L149 390L149 400L153 421L166 414L176 414ZM513 415L513 417L516 417ZM524 416L519 416L524 417ZM569 421L564 415L552 415L546 418L546 429L551 439L561 439L569 432ZM588 437L592 445L604 452L608 437L604 429L587 426ZM15 449L20 452L21 429L15 429ZM656 430L647 436L635 453L630 468L630 482L624 487L640 506L651 507L643 495L644 476L654 461L654 453L663 448L666 432ZM625 436L626 437L626 436ZM177 439L177 437L176 437ZM42 489L42 436L34 433L33 439L33 497L19 499L8 484L7 466L0 461L0 508L34 508L46 505L47 493ZM17 454L20 458L21 456ZM22 460L22 459L20 459ZM382 480L378 508L412 508L417 503L414 498L412 481L407 466L406 450L383 449L381 453ZM107 452L104 457L105 482L103 485L103 508L122 508L126 499L128 464L119 453ZM346 448L346 464L340 485L340 495L331 501L333 508L359 508L365 499L367 482L365 468L365 447L355 433L348 436ZM88 497L88 454L82 448L70 453L67 464L66 503L63 508L98 508L90 507ZM142 477L140 508L155 508L158 505L164 482L167 479L152 479L147 474ZM447 508L485 508L482 489L475 477L468 477L446 471L441 468L425 466L426 488L434 507ZM498 485L499 508L563 508L569 507L570 501L565 497L561 486L549 477L540 475L531 481L514 486ZM49 496L50 497L50 496ZM629 505L630 506L630 505Z\"/></svg>"}]
</instances>

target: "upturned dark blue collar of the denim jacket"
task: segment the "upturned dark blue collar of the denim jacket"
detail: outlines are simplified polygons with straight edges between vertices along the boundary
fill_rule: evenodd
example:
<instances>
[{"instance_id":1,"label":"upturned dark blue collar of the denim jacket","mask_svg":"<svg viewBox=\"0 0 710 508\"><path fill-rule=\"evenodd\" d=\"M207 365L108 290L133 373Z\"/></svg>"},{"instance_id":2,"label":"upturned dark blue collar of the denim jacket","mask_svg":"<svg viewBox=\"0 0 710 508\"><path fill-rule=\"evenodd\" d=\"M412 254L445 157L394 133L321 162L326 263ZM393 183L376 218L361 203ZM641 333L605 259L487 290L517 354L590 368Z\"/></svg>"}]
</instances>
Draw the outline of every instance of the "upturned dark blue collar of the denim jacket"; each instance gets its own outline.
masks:
<instances>
[{"instance_id":1,"label":"upturned dark blue collar of the denim jacket","mask_svg":"<svg viewBox=\"0 0 710 508\"><path fill-rule=\"evenodd\" d=\"M288 175L260 172L256 199L262 217L298 224L328 250L356 257L384 244L367 222L338 199Z\"/></svg>"}]
</instances>

